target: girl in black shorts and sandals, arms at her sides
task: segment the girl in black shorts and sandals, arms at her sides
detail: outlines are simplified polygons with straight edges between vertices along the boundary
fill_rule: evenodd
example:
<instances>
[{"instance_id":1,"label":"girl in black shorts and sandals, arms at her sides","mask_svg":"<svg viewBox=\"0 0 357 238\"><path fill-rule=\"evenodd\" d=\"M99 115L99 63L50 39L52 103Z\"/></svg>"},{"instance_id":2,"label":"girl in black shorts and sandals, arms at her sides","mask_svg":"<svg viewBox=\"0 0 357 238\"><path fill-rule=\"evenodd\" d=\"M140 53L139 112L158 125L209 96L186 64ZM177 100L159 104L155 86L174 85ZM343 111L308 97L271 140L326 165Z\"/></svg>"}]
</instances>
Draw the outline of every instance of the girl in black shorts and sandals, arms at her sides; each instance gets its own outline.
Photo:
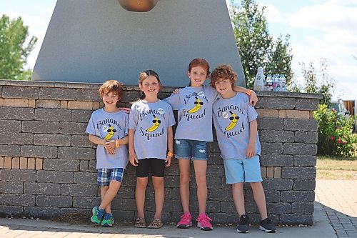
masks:
<instances>
[{"instance_id":1,"label":"girl in black shorts and sandals, arms at her sides","mask_svg":"<svg viewBox=\"0 0 357 238\"><path fill-rule=\"evenodd\" d=\"M141 97L131 106L129 115L129 161L136 167L135 199L138 217L135 227L160 228L164 207L164 173L174 157L175 124L171 106L158 98L162 87L159 75L146 70L139 75ZM154 219L146 226L144 215L145 191L149 170L155 192Z\"/></svg>"}]
</instances>

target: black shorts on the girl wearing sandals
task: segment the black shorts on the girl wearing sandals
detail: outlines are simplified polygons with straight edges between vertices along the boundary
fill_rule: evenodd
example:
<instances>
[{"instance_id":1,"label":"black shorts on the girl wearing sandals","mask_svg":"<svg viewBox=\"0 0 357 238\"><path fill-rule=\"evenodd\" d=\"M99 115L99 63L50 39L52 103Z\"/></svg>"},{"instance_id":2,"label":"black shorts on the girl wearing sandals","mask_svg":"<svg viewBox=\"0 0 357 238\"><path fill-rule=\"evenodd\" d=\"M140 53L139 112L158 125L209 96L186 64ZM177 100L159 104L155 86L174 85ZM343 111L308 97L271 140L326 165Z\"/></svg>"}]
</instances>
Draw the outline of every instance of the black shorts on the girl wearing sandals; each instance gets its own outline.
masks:
<instances>
[{"instance_id":1,"label":"black shorts on the girl wearing sandals","mask_svg":"<svg viewBox=\"0 0 357 238\"><path fill-rule=\"evenodd\" d=\"M165 159L139 159L139 164L136 167L136 177L145 178L149 176L164 177L165 174Z\"/></svg>"}]
</instances>

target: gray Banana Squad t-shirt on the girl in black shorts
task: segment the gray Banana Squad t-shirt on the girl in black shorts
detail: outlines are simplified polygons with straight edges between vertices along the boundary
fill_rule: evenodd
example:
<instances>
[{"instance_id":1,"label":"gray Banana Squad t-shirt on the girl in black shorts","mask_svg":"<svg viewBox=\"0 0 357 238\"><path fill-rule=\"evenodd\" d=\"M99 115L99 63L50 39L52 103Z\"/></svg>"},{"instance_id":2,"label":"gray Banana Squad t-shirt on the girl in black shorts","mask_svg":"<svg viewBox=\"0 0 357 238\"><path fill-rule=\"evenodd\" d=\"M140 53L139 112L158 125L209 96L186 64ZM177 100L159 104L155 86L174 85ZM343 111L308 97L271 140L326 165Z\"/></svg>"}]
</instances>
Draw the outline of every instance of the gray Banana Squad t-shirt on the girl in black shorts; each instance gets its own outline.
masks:
<instances>
[{"instance_id":1,"label":"gray Banana Squad t-shirt on the girl in black shorts","mask_svg":"<svg viewBox=\"0 0 357 238\"><path fill-rule=\"evenodd\" d=\"M166 159L167 127L174 124L174 113L165 101L136 101L131 106L129 115L129 129L135 130L136 157Z\"/></svg>"}]
</instances>

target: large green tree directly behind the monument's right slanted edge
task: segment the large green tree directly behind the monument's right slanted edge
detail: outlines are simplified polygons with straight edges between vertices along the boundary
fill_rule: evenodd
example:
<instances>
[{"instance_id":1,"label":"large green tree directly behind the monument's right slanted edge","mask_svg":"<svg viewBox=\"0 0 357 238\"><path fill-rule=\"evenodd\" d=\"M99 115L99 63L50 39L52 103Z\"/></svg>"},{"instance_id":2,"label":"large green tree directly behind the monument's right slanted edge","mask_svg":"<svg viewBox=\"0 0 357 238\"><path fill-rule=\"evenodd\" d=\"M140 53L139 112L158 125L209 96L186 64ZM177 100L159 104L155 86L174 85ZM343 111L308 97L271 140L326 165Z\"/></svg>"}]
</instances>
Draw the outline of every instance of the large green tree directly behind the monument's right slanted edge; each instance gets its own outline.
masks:
<instances>
[{"instance_id":1,"label":"large green tree directly behind the monument's right slanted edge","mask_svg":"<svg viewBox=\"0 0 357 238\"><path fill-rule=\"evenodd\" d=\"M264 10L265 6L260 9L254 0L241 0L240 6L231 0L231 22L248 88L253 88L258 66L264 68L265 74L285 74L286 84L293 76L290 36L279 36L274 41Z\"/></svg>"}]
</instances>

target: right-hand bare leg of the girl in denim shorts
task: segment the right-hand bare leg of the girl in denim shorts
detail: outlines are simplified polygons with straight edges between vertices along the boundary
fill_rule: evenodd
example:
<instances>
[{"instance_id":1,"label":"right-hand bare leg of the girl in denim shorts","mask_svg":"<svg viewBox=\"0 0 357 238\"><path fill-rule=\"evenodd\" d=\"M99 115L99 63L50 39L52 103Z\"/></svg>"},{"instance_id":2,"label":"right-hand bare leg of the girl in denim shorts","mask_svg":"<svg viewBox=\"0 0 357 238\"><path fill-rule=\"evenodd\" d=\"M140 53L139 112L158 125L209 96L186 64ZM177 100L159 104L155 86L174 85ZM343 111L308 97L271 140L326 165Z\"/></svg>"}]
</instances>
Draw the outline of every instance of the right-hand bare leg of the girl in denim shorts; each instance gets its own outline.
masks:
<instances>
[{"instance_id":1,"label":"right-hand bare leg of the girl in denim shorts","mask_svg":"<svg viewBox=\"0 0 357 238\"><path fill-rule=\"evenodd\" d=\"M197 184L197 199L199 214L206 213L207 182L206 182L206 160L193 160Z\"/></svg>"}]
</instances>

